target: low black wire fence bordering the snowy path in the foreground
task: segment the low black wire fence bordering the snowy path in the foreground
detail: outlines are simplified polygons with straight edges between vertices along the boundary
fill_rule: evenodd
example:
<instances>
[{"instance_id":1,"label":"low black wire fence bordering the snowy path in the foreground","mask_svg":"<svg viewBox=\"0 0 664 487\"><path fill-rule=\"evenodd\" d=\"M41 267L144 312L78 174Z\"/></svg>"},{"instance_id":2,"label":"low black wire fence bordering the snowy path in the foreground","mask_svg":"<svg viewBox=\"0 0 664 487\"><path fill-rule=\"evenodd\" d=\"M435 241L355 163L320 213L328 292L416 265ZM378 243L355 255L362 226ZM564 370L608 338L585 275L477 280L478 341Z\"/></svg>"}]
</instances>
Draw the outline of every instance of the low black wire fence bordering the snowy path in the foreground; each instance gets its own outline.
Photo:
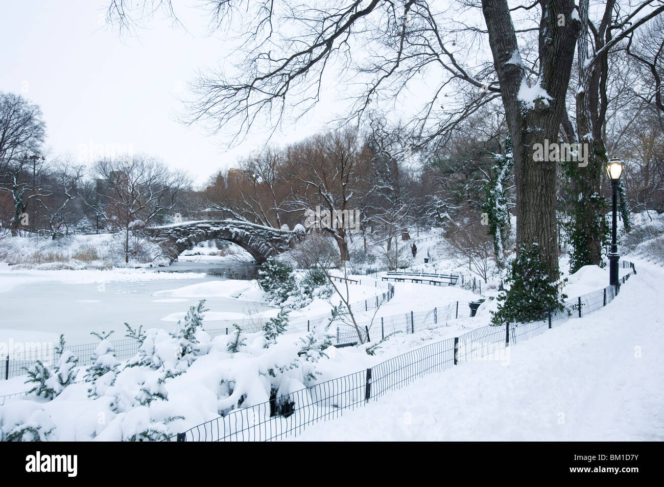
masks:
<instances>
[{"instance_id":1,"label":"low black wire fence bordering the snowy path in the foreground","mask_svg":"<svg viewBox=\"0 0 664 487\"><path fill-rule=\"evenodd\" d=\"M631 267L631 273L636 272L632 263L625 262L623 267ZM574 316L592 313L618 295L620 284L625 283L631 273L622 277L619 285L566 301L562 310L539 313L533 319L516 323L481 326L461 336L400 354L367 370L317 383L271 398L265 403L236 409L173 435L168 441L274 441L288 435L299 435L308 425L333 419L342 415L343 411L366 405L387 391L404 387L417 378L449 370L463 362L483 359L497 350L505 350L508 346L539 336ZM411 324L415 316L415 313L411 314ZM428 313L418 313L417 319L418 322L426 322L429 317ZM399 328L403 328L404 324L408 326L408 315L395 317L394 324ZM371 335L371 331L369 333Z\"/></svg>"}]
</instances>

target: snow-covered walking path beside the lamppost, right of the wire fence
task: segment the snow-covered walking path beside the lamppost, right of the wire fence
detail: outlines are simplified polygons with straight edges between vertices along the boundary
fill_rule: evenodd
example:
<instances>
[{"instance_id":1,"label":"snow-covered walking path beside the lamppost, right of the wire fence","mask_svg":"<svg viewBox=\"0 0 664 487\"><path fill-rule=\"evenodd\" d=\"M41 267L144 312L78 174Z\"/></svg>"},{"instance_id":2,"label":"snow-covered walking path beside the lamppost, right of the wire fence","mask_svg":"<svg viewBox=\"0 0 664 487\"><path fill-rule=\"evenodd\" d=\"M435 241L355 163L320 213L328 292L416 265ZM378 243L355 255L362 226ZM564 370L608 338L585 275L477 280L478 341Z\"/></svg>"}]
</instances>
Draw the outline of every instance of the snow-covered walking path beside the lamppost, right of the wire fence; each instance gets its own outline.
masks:
<instances>
[{"instance_id":1,"label":"snow-covered walking path beside the lamppost, right of the wire fence","mask_svg":"<svg viewBox=\"0 0 664 487\"><path fill-rule=\"evenodd\" d=\"M605 309L513 346L509 364L420 378L297 439L664 440L664 271L636 266Z\"/></svg>"}]
</instances>

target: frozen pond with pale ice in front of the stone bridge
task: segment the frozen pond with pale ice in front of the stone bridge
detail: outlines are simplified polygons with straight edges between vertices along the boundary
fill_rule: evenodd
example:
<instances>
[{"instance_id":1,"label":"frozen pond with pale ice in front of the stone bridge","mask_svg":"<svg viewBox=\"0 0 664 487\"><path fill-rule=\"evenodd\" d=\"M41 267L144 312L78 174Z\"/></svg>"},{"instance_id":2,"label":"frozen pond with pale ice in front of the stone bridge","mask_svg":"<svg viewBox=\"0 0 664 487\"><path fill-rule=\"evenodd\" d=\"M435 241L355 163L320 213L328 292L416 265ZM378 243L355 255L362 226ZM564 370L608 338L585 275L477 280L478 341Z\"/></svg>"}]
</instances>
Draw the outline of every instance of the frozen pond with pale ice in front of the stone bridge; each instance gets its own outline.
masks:
<instances>
[{"instance_id":1,"label":"frozen pond with pale ice in front of the stone bridge","mask_svg":"<svg viewBox=\"0 0 664 487\"><path fill-rule=\"evenodd\" d=\"M186 261L175 263L169 271L187 271L189 264ZM210 264L199 263L191 270L206 272L208 269ZM0 292L0 340L50 341L64 333L68 344L84 344L96 342L90 332L102 330L114 330L112 338L119 340L124 338L125 322L134 328L143 325L143 329L159 327L171 330L175 323L162 321L161 318L172 313L184 313L196 305L199 299L155 297L153 293L207 281L226 280L218 275L198 279L170 279L166 273L161 273L159 277L162 279L111 280L100 284L48 280L48 272L37 275L19 271L5 273L2 276L5 286L0 287L0 291L4 289ZM270 309L263 303L228 297L206 299L206 305L212 312L254 314ZM206 327L216 328L214 323L208 321Z\"/></svg>"}]
</instances>

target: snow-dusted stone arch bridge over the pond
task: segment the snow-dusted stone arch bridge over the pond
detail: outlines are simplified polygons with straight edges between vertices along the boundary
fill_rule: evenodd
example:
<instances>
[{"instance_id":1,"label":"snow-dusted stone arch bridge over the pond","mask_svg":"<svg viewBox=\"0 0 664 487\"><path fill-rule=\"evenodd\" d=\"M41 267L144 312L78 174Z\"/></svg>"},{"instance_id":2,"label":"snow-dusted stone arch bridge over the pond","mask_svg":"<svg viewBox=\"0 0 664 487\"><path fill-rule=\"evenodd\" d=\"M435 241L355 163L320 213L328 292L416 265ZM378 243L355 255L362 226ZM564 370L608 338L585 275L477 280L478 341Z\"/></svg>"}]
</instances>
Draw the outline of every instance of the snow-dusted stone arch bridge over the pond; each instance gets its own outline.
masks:
<instances>
[{"instance_id":1,"label":"snow-dusted stone arch bridge over the pond","mask_svg":"<svg viewBox=\"0 0 664 487\"><path fill-rule=\"evenodd\" d=\"M236 243L248 251L256 262L282 253L303 237L303 232L278 230L239 220L204 220L146 228L148 236L164 249L173 262L178 255L197 243L220 239Z\"/></svg>"}]
</instances>

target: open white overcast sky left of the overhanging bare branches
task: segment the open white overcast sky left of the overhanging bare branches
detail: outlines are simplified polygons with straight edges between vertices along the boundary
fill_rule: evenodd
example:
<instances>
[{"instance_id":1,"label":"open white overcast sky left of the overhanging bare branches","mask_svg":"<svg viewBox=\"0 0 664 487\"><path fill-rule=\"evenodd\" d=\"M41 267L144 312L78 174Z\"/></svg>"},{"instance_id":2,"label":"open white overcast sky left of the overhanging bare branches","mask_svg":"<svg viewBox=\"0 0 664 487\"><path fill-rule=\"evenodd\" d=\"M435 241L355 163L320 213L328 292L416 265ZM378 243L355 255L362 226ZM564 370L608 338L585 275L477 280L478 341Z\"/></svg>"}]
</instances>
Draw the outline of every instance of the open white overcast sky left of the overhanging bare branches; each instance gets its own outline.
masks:
<instances>
[{"instance_id":1,"label":"open white overcast sky left of the overhanging bare branches","mask_svg":"<svg viewBox=\"0 0 664 487\"><path fill-rule=\"evenodd\" d=\"M187 31L162 19L121 38L104 25L104 0L2 0L0 91L41 106L50 157L90 159L100 148L127 147L187 169L202 183L265 142L256 134L226 151L220 137L175 121L187 82L199 68L224 60L224 42L206 36L205 11L178 8ZM317 131L330 104L286 127L276 141Z\"/></svg>"}]
</instances>

